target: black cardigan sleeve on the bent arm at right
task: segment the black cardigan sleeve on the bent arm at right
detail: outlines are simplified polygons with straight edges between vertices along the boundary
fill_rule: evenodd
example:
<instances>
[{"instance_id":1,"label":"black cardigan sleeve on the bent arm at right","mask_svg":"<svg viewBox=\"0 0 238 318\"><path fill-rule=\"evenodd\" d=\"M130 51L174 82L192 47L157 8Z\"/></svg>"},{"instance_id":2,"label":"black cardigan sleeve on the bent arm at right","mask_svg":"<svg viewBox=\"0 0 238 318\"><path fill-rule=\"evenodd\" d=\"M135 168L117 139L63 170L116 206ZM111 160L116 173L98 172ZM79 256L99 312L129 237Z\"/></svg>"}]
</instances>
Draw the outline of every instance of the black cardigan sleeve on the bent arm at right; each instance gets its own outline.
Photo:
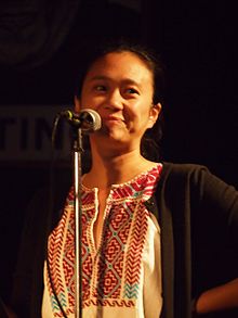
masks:
<instances>
[{"instance_id":1,"label":"black cardigan sleeve on the bent arm at right","mask_svg":"<svg viewBox=\"0 0 238 318\"><path fill-rule=\"evenodd\" d=\"M189 188L194 285L201 291L238 277L238 192L204 167Z\"/></svg>"}]
</instances>

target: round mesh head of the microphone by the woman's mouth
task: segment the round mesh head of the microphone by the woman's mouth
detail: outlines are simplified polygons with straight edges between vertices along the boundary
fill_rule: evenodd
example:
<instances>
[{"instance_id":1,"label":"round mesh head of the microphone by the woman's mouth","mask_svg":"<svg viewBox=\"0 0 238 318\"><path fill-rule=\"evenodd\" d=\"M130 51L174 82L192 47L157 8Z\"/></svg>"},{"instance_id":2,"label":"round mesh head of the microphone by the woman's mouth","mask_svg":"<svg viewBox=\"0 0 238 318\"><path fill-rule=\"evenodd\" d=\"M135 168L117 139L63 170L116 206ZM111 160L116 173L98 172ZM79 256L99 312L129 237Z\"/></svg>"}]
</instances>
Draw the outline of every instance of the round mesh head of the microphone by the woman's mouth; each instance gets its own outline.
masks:
<instances>
[{"instance_id":1,"label":"round mesh head of the microphone by the woman's mouth","mask_svg":"<svg viewBox=\"0 0 238 318\"><path fill-rule=\"evenodd\" d=\"M91 109L81 110L79 113L79 120L83 132L93 132L100 130L102 127L102 119L100 114Z\"/></svg>"}]
</instances>

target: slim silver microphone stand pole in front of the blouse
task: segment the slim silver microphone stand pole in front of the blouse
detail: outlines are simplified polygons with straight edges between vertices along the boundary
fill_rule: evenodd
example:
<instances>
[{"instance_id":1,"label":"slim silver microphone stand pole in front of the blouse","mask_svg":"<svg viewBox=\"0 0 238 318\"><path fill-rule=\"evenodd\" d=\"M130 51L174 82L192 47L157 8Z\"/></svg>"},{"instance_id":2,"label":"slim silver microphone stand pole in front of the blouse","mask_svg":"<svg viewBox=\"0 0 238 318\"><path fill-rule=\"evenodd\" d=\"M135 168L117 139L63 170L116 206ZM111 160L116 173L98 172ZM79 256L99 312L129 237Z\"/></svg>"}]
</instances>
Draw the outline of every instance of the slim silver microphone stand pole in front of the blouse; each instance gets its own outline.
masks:
<instances>
[{"instance_id":1,"label":"slim silver microphone stand pole in front of the blouse","mask_svg":"<svg viewBox=\"0 0 238 318\"><path fill-rule=\"evenodd\" d=\"M75 318L82 317L82 131L72 127L75 209Z\"/></svg>"}]
</instances>

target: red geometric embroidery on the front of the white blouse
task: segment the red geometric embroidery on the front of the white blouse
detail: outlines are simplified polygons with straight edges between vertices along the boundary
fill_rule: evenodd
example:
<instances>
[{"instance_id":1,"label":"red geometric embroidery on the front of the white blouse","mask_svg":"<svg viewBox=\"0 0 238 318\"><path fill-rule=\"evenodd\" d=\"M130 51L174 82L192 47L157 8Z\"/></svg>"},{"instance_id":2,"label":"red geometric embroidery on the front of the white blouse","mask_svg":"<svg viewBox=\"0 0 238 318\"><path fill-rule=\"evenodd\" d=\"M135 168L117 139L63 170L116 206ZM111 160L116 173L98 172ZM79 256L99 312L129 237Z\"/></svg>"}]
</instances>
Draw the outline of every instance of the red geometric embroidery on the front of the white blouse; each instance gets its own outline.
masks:
<instances>
[{"instance_id":1,"label":"red geometric embroidery on the front of the white blouse","mask_svg":"<svg viewBox=\"0 0 238 318\"><path fill-rule=\"evenodd\" d=\"M97 190L82 191L82 307L133 307L142 292L142 256L149 213L144 202L155 191L161 165L123 185L111 187L100 246L93 240ZM48 243L50 270L56 294L67 313L75 306L75 215L70 190L63 217ZM63 317L47 281L54 317Z\"/></svg>"}]
</instances>

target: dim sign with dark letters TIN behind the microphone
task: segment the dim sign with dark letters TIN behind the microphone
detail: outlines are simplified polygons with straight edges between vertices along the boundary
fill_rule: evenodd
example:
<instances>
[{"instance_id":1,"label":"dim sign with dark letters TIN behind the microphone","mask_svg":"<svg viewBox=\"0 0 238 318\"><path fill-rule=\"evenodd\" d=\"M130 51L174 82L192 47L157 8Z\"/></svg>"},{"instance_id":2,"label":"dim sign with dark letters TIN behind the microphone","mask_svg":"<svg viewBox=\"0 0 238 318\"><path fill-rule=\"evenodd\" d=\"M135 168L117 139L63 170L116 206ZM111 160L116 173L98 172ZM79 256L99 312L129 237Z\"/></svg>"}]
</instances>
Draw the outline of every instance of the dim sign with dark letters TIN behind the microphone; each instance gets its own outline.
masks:
<instances>
[{"instance_id":1,"label":"dim sign with dark letters TIN behind the microphone","mask_svg":"<svg viewBox=\"0 0 238 318\"><path fill-rule=\"evenodd\" d=\"M71 106L0 106L0 162L50 161L53 150L61 160L67 160L71 144L68 123L60 120L55 148L51 141L55 116L62 110Z\"/></svg>"}]
</instances>

